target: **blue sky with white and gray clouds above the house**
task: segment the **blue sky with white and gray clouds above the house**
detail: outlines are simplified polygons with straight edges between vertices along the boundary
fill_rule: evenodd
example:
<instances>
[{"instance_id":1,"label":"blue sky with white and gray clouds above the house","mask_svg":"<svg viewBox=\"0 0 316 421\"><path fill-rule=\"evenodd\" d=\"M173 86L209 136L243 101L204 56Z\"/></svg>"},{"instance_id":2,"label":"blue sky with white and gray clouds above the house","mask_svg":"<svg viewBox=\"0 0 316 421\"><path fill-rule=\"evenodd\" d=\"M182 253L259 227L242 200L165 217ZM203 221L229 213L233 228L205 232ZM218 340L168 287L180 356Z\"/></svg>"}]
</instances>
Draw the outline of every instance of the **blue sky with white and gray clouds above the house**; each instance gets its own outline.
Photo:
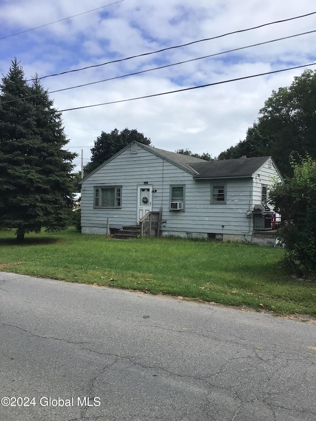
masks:
<instances>
[{"instance_id":1,"label":"blue sky with white and gray clouds above the house","mask_svg":"<svg viewBox=\"0 0 316 421\"><path fill-rule=\"evenodd\" d=\"M315 11L315 0L0 0L0 73L7 74L14 57L27 78L36 73L44 77ZM78 16L65 19L74 15ZM59 22L46 25L55 21ZM51 93L55 107L65 110L306 65L316 62L316 33L121 77L314 31L315 23L316 14L312 14L156 54L45 77L41 82L51 92L119 77ZM40 28L28 31L35 27ZM184 148L217 156L244 139L272 91L290 85L303 70L65 111L68 148L79 154L83 149L86 163L101 131L127 127L144 133L160 149ZM79 170L80 157L75 163Z\"/></svg>"}]
</instances>

